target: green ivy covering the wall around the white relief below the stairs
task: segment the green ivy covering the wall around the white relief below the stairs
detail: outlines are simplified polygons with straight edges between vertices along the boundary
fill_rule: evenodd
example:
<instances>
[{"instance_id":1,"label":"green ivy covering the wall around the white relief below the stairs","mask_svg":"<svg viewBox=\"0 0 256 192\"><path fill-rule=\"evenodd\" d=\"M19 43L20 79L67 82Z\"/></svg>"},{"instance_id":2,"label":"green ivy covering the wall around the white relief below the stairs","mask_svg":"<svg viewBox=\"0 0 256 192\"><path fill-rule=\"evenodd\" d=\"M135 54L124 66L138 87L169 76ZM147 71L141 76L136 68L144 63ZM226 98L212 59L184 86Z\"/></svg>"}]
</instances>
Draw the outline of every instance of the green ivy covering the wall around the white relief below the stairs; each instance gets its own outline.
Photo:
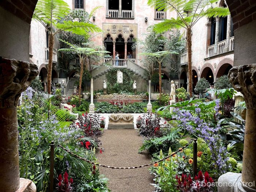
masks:
<instances>
[{"instance_id":1,"label":"green ivy covering the wall around the white relief below the stairs","mask_svg":"<svg viewBox=\"0 0 256 192\"><path fill-rule=\"evenodd\" d=\"M117 83L117 71L123 72L123 83ZM134 92L133 82L137 80L136 75L126 68L112 68L106 74L107 79L107 92L121 93L121 92Z\"/></svg>"}]
</instances>

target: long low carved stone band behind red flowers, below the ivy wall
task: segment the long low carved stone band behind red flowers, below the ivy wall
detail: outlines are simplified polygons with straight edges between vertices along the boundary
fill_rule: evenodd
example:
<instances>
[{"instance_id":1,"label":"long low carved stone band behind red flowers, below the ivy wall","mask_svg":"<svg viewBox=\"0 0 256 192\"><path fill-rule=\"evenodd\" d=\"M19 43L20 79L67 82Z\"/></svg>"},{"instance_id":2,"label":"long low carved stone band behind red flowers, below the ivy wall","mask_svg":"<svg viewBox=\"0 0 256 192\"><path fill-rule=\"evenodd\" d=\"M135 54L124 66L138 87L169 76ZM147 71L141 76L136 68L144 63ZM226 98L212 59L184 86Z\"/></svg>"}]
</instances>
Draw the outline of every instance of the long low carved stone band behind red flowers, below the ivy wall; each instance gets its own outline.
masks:
<instances>
[{"instance_id":1,"label":"long low carved stone band behind red flowers, below the ivy wall","mask_svg":"<svg viewBox=\"0 0 256 192\"><path fill-rule=\"evenodd\" d=\"M118 100L118 99L147 99L146 94L139 94L139 95L127 95L127 94L109 94L109 95L102 95L100 93L96 94L96 99L112 99L112 100Z\"/></svg>"}]
</instances>

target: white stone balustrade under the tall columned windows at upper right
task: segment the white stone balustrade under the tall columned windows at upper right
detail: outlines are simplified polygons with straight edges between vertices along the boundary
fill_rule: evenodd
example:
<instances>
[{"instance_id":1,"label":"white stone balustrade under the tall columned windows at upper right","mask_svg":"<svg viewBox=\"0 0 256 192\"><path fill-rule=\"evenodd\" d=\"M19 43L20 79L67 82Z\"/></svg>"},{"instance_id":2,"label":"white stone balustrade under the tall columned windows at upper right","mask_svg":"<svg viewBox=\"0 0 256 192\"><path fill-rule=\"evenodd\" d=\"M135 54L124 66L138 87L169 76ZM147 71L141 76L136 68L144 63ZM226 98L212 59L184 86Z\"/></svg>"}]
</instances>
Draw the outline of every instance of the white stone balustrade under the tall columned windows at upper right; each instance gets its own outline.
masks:
<instances>
[{"instance_id":1,"label":"white stone balustrade under the tall columned windows at upper right","mask_svg":"<svg viewBox=\"0 0 256 192\"><path fill-rule=\"evenodd\" d=\"M217 44L217 54L214 54L215 45L208 46L208 54L207 57L212 57L218 54L225 54L226 52L230 52L234 50L234 37L229 38L229 47L227 47L227 39L218 42Z\"/></svg>"}]
</instances>

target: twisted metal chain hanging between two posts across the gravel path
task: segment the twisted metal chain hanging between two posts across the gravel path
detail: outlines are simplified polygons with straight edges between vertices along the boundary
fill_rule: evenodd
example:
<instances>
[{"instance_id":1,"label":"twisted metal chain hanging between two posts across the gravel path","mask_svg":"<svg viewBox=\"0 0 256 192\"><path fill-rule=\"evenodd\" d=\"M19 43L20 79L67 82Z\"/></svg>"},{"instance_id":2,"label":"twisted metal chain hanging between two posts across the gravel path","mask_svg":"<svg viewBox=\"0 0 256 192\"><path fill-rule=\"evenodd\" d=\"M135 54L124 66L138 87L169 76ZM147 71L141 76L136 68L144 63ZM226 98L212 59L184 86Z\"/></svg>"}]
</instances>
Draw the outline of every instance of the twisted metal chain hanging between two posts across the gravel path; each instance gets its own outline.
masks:
<instances>
[{"instance_id":1,"label":"twisted metal chain hanging between two posts across the gravel path","mask_svg":"<svg viewBox=\"0 0 256 192\"><path fill-rule=\"evenodd\" d=\"M189 144L191 144L192 141L193 141L193 140L191 140L191 141L190 141L188 144L186 144L184 147L181 147L178 151L172 153L171 155L168 155L167 157L165 157L165 158L163 158L163 159L160 159L160 160L155 161L155 162L153 162L153 163L148 163L148 164L145 164L145 165L140 165L140 166L135 166L135 167L113 167L113 166L101 165L101 164L99 164L99 163L95 163L95 162L93 162L93 161L89 161L88 159L85 159L85 158L83 158L83 157L80 157L80 156L74 154L72 151L66 149L65 147L63 147L63 146L61 146L61 145L58 145L58 146L59 146L60 148L62 148L64 151L66 151L67 153L71 154L72 156L74 156L74 157L76 157L76 158L78 158L78 159L81 159L81 160L83 160L83 161L86 161L86 162L88 162L88 163L91 163L91 164L93 164L93 165L97 165L97 166L101 166L101 167L106 167L106 168L110 168L110 169L137 169L137 168L141 168L141 167L146 167L146 166L154 165L155 163L159 163L159 162L161 162L161 161L164 161L165 159L170 158L170 157L173 156L173 155L176 155L178 152L184 150L184 148L186 148Z\"/></svg>"}]
</instances>

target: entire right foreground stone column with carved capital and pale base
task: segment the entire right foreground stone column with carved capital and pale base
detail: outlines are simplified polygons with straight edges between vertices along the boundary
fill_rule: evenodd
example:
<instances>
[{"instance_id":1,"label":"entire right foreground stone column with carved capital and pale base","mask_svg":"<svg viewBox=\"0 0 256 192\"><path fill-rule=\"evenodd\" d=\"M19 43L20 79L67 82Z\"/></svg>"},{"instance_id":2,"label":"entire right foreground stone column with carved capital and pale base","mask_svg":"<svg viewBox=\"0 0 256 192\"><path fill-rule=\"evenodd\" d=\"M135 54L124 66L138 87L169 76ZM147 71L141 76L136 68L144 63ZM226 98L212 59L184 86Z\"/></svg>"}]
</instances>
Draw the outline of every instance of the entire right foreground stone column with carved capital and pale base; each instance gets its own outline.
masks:
<instances>
[{"instance_id":1,"label":"entire right foreground stone column with carved capital and pale base","mask_svg":"<svg viewBox=\"0 0 256 192\"><path fill-rule=\"evenodd\" d=\"M218 187L218 192L256 192L256 64L233 67L229 80L244 95L246 104L243 165L242 174L226 173L219 178L221 182L236 182L238 189Z\"/></svg>"}]
</instances>

